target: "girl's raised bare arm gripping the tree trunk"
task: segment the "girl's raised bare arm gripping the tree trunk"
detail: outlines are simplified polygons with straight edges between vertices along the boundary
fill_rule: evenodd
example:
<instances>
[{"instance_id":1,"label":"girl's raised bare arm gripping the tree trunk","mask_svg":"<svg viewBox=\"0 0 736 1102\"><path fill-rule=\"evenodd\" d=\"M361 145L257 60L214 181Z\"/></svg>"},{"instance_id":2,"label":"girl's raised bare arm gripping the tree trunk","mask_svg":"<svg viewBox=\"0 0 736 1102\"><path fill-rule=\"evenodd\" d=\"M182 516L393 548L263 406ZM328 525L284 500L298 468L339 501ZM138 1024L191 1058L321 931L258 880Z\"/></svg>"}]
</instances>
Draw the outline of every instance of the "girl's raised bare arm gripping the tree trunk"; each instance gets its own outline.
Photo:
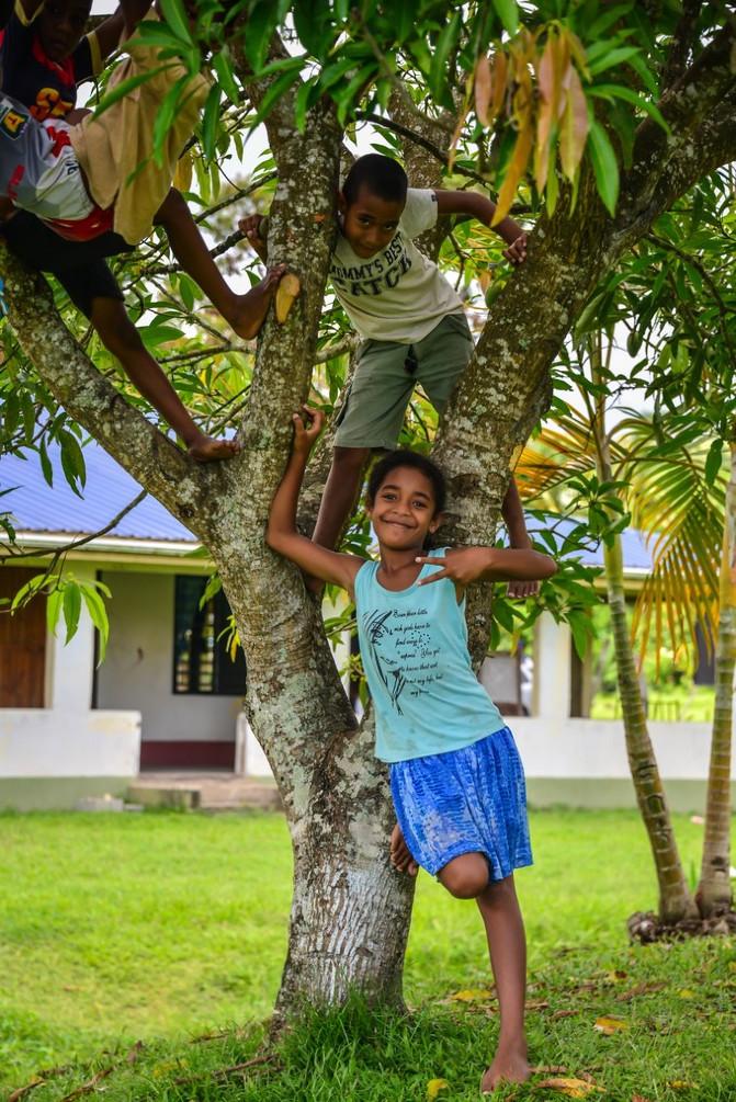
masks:
<instances>
[{"instance_id":1,"label":"girl's raised bare arm gripping the tree trunk","mask_svg":"<svg viewBox=\"0 0 736 1102\"><path fill-rule=\"evenodd\" d=\"M323 414L303 406L305 420L294 413L294 445L289 465L271 503L266 542L279 554L295 562L306 574L323 582L342 585L353 592L355 575L362 566L364 559L354 554L340 554L313 543L296 530L296 503L302 488L302 479L310 452L322 431Z\"/></svg>"}]
</instances>

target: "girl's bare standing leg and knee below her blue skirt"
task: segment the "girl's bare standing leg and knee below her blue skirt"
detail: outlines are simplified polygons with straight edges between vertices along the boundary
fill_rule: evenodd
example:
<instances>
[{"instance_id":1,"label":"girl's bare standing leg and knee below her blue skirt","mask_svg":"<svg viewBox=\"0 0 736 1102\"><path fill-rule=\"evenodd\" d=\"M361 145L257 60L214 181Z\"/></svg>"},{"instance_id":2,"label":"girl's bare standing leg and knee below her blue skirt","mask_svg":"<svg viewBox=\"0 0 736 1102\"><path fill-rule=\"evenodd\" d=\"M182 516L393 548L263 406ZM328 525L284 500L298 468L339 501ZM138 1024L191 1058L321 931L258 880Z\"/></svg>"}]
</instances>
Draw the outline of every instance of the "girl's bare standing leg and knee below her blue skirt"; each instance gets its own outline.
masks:
<instances>
[{"instance_id":1,"label":"girl's bare standing leg and knee below her blue skirt","mask_svg":"<svg viewBox=\"0 0 736 1102\"><path fill-rule=\"evenodd\" d=\"M500 1034L494 1061L483 1077L481 1092L499 1082L529 1079L524 997L527 942L513 876L488 880L488 862L481 853L464 853L440 869L440 882L458 899L475 899L486 927L490 966L496 980Z\"/></svg>"}]
</instances>

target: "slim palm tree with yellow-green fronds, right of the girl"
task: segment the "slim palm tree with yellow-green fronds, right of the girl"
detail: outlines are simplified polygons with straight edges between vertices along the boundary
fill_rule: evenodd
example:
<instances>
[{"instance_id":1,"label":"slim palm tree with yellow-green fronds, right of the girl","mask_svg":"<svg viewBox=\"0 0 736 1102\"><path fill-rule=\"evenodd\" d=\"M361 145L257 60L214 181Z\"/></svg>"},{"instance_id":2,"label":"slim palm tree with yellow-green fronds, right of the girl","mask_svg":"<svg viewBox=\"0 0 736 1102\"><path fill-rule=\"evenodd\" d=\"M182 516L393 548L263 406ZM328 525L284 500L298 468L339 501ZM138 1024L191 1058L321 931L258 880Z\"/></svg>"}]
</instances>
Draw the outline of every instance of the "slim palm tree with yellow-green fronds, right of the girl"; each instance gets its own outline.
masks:
<instances>
[{"instance_id":1,"label":"slim palm tree with yellow-green fronds, right of the girl","mask_svg":"<svg viewBox=\"0 0 736 1102\"><path fill-rule=\"evenodd\" d=\"M672 830L667 799L649 737L639 684L632 633L626 617L621 528L631 520L648 533L653 569L639 595L634 629L641 651L653 633L659 649L665 624L675 642L693 646L700 623L715 635L718 607L718 559L723 532L723 480L711 486L704 476L707 442L702 440L664 450L650 418L629 415L611 429L606 425L606 388L611 344L604 352L600 334L584 343L578 367L587 372L580 387L584 412L569 407L526 447L516 475L523 496L540 498L553 489L574 487L587 496L592 528L604 537L604 565L626 745L637 801L649 836L659 882L659 916L671 925L696 914ZM733 584L733 583L732 583ZM736 587L736 586L735 586ZM729 620L736 642L736 617ZM730 637L729 637L730 638ZM733 663L730 667L733 680ZM724 672L724 682L727 671ZM730 684L730 682L729 682ZM727 695L724 688L724 698ZM733 695L733 692L732 692ZM729 730L722 717L718 742L718 815L714 852L723 863L723 761ZM714 737L714 745L715 745ZM728 763L726 763L728 776ZM729 777L728 777L729 784ZM710 801L708 801L710 802ZM727 833L727 832L726 832ZM726 864L728 868L728 863Z\"/></svg>"}]
</instances>

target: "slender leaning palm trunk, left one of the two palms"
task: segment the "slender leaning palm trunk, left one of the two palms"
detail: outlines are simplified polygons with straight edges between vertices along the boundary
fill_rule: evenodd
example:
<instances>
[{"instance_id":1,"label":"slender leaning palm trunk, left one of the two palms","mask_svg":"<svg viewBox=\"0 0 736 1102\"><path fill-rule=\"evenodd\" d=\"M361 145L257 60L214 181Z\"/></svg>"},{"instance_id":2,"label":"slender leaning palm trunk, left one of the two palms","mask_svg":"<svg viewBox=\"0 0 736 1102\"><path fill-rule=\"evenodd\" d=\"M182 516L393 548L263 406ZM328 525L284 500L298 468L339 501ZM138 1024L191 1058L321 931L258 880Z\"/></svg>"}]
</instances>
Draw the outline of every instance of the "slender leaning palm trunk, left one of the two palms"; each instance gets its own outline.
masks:
<instances>
[{"instance_id":1,"label":"slender leaning palm trunk, left one of the two palms","mask_svg":"<svg viewBox=\"0 0 736 1102\"><path fill-rule=\"evenodd\" d=\"M591 352L594 382L600 383L602 347L598 336ZM603 393L602 390L598 391ZM593 429L596 444L596 466L602 483L614 482L610 451L605 423L605 398L596 398ZM695 901L688 888L682 872L678 844L672 830L670 811L664 796L662 779L649 737L641 687L637 674L634 649L626 618L626 596L624 590L624 553L621 537L613 536L610 545L604 544L604 565L608 590L608 607L616 655L618 695L621 702L626 752L631 770L631 780L641 812L649 844L651 846L657 880L659 884L659 917L662 922L673 923L697 914Z\"/></svg>"}]
</instances>

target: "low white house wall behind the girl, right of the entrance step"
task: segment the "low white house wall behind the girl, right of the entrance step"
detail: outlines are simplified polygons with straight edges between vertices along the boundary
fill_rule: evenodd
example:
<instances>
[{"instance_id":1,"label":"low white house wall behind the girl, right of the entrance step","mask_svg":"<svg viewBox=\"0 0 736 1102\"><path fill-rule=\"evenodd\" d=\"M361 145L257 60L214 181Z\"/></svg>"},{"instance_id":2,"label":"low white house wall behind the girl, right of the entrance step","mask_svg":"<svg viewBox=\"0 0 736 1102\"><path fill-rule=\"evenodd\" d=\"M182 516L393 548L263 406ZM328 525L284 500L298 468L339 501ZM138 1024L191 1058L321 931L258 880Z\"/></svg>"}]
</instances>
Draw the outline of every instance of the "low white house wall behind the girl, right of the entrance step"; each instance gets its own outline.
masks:
<instances>
[{"instance_id":1,"label":"low white house wall behind the girl, right of the entrance step","mask_svg":"<svg viewBox=\"0 0 736 1102\"><path fill-rule=\"evenodd\" d=\"M270 777L271 770L245 717L240 721L243 771ZM636 797L624 725L617 720L509 719L527 773L529 802L535 807L632 808ZM650 723L668 801L675 811L702 811L711 749L704 723ZM736 756L734 806L736 807Z\"/></svg>"}]
</instances>

